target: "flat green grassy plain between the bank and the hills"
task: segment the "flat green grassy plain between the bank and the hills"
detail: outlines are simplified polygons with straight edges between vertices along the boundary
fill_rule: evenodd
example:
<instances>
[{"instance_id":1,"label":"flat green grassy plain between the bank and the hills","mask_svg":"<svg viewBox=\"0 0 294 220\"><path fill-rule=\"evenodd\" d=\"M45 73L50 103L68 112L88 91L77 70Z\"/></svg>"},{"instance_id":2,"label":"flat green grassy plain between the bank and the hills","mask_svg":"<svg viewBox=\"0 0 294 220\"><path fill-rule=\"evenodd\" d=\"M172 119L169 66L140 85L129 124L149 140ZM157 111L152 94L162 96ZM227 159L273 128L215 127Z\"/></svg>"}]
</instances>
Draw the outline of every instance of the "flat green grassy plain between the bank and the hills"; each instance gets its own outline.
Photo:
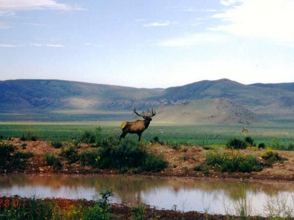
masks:
<instances>
[{"instance_id":1,"label":"flat green grassy plain between the bank and the hills","mask_svg":"<svg viewBox=\"0 0 294 220\"><path fill-rule=\"evenodd\" d=\"M0 122L0 135L7 137L21 137L30 133L42 140L70 141L78 138L85 130L96 127L102 128L103 136L119 137L122 121L80 121L80 122L30 122L30 121L6 121ZM246 127L248 133L242 133ZM269 146L273 140L280 144L294 143L293 120L273 120L267 124L255 125L188 125L188 124L164 124L151 122L149 128L142 134L144 141L158 136L161 141L186 142L200 146L219 146L225 144L233 137L244 138L251 136L258 145L265 142ZM127 134L137 139L136 134Z\"/></svg>"}]
</instances>

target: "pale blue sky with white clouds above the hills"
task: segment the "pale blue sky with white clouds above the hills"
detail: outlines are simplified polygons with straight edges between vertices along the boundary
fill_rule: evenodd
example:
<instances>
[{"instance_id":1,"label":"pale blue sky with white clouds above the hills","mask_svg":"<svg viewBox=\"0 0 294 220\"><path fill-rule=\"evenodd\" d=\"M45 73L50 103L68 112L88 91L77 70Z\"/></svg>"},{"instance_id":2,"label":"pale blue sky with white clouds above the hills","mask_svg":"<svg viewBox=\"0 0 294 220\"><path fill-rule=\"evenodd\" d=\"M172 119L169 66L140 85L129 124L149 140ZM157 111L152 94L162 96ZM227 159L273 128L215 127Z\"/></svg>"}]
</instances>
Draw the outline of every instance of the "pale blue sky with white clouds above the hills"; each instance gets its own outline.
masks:
<instances>
[{"instance_id":1,"label":"pale blue sky with white clouds above the hills","mask_svg":"<svg viewBox=\"0 0 294 220\"><path fill-rule=\"evenodd\" d=\"M294 0L0 0L0 80L294 82Z\"/></svg>"}]
</instances>

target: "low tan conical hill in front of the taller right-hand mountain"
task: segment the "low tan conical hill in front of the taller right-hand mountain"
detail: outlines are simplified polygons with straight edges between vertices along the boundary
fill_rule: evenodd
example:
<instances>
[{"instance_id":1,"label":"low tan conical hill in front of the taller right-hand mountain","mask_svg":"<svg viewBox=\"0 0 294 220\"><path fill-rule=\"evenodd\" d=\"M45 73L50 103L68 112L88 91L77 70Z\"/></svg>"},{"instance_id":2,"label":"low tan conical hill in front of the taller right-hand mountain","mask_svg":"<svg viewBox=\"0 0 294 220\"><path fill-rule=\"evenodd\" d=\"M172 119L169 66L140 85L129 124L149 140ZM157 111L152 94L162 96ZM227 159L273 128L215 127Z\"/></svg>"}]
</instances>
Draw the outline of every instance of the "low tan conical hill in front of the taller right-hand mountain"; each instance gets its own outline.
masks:
<instances>
[{"instance_id":1,"label":"low tan conical hill in front of the taller right-hand mountain","mask_svg":"<svg viewBox=\"0 0 294 220\"><path fill-rule=\"evenodd\" d=\"M198 99L159 107L156 120L189 124L252 124L263 121L254 112L226 98Z\"/></svg>"}]
</instances>

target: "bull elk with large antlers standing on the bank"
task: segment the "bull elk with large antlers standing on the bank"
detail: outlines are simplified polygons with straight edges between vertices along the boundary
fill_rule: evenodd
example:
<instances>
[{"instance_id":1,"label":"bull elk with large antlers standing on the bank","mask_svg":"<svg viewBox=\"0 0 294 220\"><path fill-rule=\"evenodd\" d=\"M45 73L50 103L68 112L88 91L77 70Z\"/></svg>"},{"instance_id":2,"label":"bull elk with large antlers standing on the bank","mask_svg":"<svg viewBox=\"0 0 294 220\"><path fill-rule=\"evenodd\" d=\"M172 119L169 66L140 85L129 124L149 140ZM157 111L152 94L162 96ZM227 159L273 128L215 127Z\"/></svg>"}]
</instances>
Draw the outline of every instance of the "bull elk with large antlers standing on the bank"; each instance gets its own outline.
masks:
<instances>
[{"instance_id":1,"label":"bull elk with large antlers standing on the bank","mask_svg":"<svg viewBox=\"0 0 294 220\"><path fill-rule=\"evenodd\" d=\"M145 129L148 128L150 121L152 121L152 116L156 114L156 112L153 110L153 108L150 110L147 110L147 114L142 112L142 114L138 114L136 111L136 108L133 110L133 114L135 113L138 116L141 116L144 118L144 120L137 120L137 121L125 121L121 125L121 129L123 130L123 133L121 134L120 138L124 138L127 133L136 133L139 136L139 141L141 140L141 134L145 131Z\"/></svg>"}]
</instances>

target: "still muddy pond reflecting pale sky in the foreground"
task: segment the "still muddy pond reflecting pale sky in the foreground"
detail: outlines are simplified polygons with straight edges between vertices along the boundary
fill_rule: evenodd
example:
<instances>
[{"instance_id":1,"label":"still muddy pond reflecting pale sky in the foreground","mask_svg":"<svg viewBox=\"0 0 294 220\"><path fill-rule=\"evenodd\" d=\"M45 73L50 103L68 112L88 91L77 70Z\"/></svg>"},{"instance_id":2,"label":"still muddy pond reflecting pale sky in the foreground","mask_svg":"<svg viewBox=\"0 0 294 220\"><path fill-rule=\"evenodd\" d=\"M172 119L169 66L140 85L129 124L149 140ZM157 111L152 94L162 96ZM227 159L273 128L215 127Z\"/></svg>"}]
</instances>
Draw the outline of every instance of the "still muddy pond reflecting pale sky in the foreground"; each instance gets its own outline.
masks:
<instances>
[{"instance_id":1,"label":"still muddy pond reflecting pale sky in the foreground","mask_svg":"<svg viewBox=\"0 0 294 220\"><path fill-rule=\"evenodd\" d=\"M246 195L253 213L263 215L269 198L287 198L291 202L294 183L236 181L183 177L123 175L1 175L0 196L36 198L93 199L103 189L113 189L111 202L143 202L161 209L180 211L207 210L232 213L235 199Z\"/></svg>"}]
</instances>

